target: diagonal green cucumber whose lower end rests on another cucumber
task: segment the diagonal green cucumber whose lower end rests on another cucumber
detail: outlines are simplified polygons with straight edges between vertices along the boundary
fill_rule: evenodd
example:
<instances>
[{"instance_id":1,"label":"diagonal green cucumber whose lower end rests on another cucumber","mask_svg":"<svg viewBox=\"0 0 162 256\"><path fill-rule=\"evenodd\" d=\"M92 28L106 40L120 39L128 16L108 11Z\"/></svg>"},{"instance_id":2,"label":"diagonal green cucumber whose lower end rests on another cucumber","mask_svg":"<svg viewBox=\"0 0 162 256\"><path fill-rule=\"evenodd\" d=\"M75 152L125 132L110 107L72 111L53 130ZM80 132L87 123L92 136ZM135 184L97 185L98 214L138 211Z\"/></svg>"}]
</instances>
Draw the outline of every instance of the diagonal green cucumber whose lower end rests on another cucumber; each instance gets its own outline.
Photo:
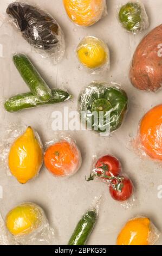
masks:
<instances>
[{"instance_id":1,"label":"diagonal green cucumber whose lower end rests on another cucumber","mask_svg":"<svg viewBox=\"0 0 162 256\"><path fill-rule=\"evenodd\" d=\"M31 93L42 102L49 101L52 96L51 89L30 62L30 59L24 54L18 53L14 55L13 61Z\"/></svg>"}]
</instances>

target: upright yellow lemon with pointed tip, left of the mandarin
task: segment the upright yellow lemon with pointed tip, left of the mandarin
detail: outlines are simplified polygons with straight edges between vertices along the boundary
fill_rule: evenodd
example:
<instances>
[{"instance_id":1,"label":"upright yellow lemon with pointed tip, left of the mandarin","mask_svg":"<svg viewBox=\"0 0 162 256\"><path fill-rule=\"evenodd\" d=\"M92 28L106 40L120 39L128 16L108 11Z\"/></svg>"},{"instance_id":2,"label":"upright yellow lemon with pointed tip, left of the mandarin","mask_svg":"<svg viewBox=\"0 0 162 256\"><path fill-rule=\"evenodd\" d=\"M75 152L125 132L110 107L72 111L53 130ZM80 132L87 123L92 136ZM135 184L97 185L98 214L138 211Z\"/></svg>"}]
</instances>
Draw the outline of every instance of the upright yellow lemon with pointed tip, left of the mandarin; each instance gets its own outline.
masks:
<instances>
[{"instance_id":1,"label":"upright yellow lemon with pointed tip, left of the mandarin","mask_svg":"<svg viewBox=\"0 0 162 256\"><path fill-rule=\"evenodd\" d=\"M38 135L29 126L11 146L9 153L10 171L20 183L25 184L38 174L42 163L41 142Z\"/></svg>"}]
</instances>

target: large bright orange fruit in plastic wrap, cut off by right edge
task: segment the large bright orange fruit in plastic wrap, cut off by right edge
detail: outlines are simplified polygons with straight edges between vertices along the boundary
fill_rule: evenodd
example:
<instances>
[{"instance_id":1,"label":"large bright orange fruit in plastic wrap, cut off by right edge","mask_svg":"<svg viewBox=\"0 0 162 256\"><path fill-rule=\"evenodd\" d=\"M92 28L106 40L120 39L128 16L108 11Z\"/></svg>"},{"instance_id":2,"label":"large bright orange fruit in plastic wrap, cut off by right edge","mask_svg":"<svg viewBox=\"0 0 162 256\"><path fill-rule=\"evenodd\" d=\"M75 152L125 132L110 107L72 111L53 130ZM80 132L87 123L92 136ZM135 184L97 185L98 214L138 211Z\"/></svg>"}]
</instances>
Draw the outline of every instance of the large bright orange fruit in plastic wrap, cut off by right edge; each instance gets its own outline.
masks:
<instances>
[{"instance_id":1,"label":"large bright orange fruit in plastic wrap, cut off by right edge","mask_svg":"<svg viewBox=\"0 0 162 256\"><path fill-rule=\"evenodd\" d=\"M140 120L138 135L132 143L141 156L150 156L153 160L162 160L162 104L150 109Z\"/></svg>"}]
</instances>

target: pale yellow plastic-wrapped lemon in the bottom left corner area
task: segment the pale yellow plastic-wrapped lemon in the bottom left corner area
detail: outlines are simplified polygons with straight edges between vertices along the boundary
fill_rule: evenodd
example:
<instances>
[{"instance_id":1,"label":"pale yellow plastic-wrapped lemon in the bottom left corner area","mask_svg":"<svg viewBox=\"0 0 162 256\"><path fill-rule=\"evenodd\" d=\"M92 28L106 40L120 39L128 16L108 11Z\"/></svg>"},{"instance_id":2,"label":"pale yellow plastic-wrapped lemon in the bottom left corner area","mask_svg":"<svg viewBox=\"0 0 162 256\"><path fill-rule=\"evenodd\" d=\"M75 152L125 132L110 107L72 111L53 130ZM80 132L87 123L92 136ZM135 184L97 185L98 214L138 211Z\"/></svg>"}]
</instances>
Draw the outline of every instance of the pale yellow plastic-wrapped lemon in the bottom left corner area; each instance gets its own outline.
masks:
<instances>
[{"instance_id":1,"label":"pale yellow plastic-wrapped lemon in the bottom left corner area","mask_svg":"<svg viewBox=\"0 0 162 256\"><path fill-rule=\"evenodd\" d=\"M36 204L23 203L9 211L5 224L12 235L28 235L39 228L44 220L43 210Z\"/></svg>"}]
</instances>

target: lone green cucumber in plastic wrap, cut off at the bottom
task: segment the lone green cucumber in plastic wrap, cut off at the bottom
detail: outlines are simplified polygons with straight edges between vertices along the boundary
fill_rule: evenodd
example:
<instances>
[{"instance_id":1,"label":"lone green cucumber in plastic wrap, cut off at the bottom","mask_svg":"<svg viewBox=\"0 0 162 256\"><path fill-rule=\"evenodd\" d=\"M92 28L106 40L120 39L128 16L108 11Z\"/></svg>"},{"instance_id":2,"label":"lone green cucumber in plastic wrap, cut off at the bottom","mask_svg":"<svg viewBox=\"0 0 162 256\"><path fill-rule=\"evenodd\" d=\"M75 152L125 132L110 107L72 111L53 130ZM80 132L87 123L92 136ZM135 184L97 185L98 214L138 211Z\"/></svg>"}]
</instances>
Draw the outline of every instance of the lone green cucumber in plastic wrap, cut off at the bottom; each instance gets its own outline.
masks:
<instances>
[{"instance_id":1,"label":"lone green cucumber in plastic wrap, cut off at the bottom","mask_svg":"<svg viewBox=\"0 0 162 256\"><path fill-rule=\"evenodd\" d=\"M86 245L97 219L96 210L87 211L77 223L68 245Z\"/></svg>"}]
</instances>

